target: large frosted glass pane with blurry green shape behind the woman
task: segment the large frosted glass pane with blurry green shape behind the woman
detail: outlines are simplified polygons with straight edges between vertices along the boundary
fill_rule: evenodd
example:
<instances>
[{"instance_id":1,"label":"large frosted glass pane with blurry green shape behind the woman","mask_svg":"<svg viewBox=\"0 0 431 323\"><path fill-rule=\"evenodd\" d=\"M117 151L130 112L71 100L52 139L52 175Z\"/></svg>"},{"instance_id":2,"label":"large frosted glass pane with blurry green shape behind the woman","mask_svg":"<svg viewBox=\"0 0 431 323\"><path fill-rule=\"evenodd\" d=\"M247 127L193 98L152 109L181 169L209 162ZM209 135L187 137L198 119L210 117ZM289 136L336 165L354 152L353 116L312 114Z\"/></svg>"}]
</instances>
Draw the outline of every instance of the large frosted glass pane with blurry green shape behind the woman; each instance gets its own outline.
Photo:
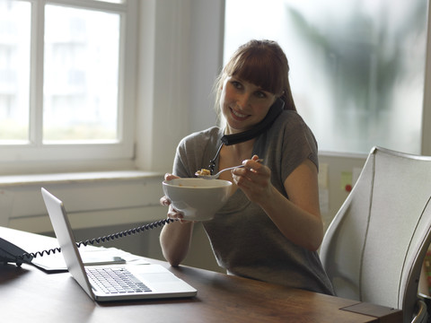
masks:
<instances>
[{"instance_id":1,"label":"large frosted glass pane with blurry green shape behind the woman","mask_svg":"<svg viewBox=\"0 0 431 323\"><path fill-rule=\"evenodd\" d=\"M253 38L284 48L320 151L421 153L427 0L226 0L224 32L224 59Z\"/></svg>"}]
</instances>

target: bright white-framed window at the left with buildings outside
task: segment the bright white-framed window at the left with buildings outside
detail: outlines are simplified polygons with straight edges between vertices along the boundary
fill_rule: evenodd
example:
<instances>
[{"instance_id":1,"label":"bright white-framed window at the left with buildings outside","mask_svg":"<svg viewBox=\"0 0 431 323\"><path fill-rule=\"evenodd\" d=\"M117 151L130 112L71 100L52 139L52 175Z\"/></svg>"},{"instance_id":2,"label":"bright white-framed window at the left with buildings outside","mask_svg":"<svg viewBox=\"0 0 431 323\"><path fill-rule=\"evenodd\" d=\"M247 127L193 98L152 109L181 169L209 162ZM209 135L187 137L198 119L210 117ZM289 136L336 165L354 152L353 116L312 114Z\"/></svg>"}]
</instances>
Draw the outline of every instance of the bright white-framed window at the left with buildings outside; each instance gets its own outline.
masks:
<instances>
[{"instance_id":1,"label":"bright white-framed window at the left with buildings outside","mask_svg":"<svg viewBox=\"0 0 431 323\"><path fill-rule=\"evenodd\" d=\"M132 157L136 4L0 2L0 162Z\"/></svg>"}]
</instances>

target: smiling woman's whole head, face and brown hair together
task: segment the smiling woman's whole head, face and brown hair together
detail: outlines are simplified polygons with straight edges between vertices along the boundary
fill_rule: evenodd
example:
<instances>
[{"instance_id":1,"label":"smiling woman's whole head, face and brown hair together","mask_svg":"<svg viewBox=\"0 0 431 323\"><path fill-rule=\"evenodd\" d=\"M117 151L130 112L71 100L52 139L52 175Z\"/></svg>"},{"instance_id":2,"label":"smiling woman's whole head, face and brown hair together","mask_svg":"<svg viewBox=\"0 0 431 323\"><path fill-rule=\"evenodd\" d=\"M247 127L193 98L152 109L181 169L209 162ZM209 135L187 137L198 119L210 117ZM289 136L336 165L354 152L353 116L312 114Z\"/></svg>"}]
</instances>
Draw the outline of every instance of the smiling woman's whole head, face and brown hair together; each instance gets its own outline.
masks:
<instances>
[{"instance_id":1,"label":"smiling woman's whole head, face and brown hair together","mask_svg":"<svg viewBox=\"0 0 431 323\"><path fill-rule=\"evenodd\" d=\"M219 118L223 115L226 119L227 131L240 132L256 125L265 117L275 96L284 101L284 109L295 111L288 72L286 55L277 42L251 40L240 46L215 83L216 112ZM240 95L242 100L248 98L246 103L236 103L242 101L234 99Z\"/></svg>"}]
</instances>

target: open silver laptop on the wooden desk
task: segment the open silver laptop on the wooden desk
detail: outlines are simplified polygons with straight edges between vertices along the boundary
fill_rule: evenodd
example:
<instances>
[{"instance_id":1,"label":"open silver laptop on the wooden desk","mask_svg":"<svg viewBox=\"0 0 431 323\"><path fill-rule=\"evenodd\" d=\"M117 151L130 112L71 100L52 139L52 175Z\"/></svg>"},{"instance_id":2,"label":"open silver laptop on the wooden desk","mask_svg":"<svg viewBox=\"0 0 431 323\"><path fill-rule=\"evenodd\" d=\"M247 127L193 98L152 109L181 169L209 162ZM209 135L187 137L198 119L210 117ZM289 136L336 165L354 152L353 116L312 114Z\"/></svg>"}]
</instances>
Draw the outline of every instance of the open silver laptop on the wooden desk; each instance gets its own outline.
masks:
<instances>
[{"instance_id":1,"label":"open silver laptop on the wooden desk","mask_svg":"<svg viewBox=\"0 0 431 323\"><path fill-rule=\"evenodd\" d=\"M157 264L84 266L63 202L41 188L69 273L94 301L192 297L197 290Z\"/></svg>"}]
</instances>

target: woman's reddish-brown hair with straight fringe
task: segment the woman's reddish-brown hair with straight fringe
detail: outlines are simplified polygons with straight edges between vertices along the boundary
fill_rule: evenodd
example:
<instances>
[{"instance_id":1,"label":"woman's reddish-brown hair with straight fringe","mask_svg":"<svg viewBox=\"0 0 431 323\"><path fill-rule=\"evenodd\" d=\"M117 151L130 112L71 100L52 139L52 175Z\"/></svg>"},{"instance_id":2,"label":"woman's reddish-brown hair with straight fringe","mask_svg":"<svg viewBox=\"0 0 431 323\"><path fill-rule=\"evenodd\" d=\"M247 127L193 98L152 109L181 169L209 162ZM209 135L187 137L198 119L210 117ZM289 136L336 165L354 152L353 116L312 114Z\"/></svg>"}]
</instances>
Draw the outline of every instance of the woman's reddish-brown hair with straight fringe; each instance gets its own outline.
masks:
<instances>
[{"instance_id":1,"label":"woman's reddish-brown hair with straight fringe","mask_svg":"<svg viewBox=\"0 0 431 323\"><path fill-rule=\"evenodd\" d=\"M296 110L288 79L289 65L283 49L273 40L251 40L240 46L216 80L216 109L227 76L237 76L274 93L285 101L285 109Z\"/></svg>"}]
</instances>

